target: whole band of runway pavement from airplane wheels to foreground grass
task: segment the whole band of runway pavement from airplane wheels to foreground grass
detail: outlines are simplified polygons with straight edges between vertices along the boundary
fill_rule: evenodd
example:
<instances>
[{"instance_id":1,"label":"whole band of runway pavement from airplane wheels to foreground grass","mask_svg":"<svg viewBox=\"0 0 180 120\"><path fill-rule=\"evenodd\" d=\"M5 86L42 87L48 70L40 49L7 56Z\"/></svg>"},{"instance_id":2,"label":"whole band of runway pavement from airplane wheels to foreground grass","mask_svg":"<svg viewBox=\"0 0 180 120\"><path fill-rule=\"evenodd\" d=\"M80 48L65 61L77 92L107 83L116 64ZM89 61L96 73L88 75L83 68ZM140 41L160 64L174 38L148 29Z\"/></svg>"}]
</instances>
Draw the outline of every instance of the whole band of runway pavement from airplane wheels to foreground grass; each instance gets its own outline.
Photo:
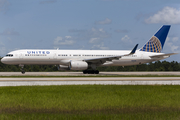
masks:
<instances>
[{"instance_id":1,"label":"whole band of runway pavement from airplane wheels to foreground grass","mask_svg":"<svg viewBox=\"0 0 180 120\"><path fill-rule=\"evenodd\" d=\"M0 76L16 76L0 78L0 86L32 86L32 85L180 85L180 77L97 77L117 75L180 75L180 72L101 72L83 74L82 72L0 72ZM33 77L17 77L33 76ZM35 77L34 77L35 76ZM37 77L36 77L37 76ZM38 76L44 76L38 77ZM67 77L46 77L67 76ZM77 77L68 77L77 76ZM81 77L78 77L81 76ZM84 76L84 77L82 77ZM96 76L96 77L87 77Z\"/></svg>"}]
</instances>

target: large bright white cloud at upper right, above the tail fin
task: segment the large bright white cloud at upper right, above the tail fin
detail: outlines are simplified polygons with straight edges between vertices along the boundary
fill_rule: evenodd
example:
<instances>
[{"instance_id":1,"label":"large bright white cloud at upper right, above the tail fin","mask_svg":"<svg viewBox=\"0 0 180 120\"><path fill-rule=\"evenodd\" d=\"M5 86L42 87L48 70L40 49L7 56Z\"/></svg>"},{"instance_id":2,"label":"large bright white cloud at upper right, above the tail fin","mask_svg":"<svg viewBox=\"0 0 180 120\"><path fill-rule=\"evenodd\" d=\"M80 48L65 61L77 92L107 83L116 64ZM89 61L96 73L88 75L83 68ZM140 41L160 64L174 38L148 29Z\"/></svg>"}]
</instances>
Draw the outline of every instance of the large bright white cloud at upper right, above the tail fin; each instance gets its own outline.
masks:
<instances>
[{"instance_id":1,"label":"large bright white cloud at upper right, above the tail fin","mask_svg":"<svg viewBox=\"0 0 180 120\"><path fill-rule=\"evenodd\" d=\"M153 16L145 20L146 23L180 24L180 10L173 7L164 7Z\"/></svg>"}]
</instances>

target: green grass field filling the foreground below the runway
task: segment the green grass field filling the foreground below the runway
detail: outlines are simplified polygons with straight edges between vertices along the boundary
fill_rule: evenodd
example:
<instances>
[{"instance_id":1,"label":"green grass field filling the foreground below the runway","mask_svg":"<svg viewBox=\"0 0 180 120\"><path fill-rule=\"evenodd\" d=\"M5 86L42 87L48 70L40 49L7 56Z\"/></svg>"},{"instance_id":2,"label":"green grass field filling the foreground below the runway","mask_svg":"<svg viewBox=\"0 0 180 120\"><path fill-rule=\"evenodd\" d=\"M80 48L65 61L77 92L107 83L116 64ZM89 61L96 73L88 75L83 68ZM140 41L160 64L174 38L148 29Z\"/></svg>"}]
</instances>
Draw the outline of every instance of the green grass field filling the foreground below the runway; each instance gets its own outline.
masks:
<instances>
[{"instance_id":1,"label":"green grass field filling the foreground below the runway","mask_svg":"<svg viewBox=\"0 0 180 120\"><path fill-rule=\"evenodd\" d=\"M180 119L180 86L0 87L0 119Z\"/></svg>"}]
</instances>

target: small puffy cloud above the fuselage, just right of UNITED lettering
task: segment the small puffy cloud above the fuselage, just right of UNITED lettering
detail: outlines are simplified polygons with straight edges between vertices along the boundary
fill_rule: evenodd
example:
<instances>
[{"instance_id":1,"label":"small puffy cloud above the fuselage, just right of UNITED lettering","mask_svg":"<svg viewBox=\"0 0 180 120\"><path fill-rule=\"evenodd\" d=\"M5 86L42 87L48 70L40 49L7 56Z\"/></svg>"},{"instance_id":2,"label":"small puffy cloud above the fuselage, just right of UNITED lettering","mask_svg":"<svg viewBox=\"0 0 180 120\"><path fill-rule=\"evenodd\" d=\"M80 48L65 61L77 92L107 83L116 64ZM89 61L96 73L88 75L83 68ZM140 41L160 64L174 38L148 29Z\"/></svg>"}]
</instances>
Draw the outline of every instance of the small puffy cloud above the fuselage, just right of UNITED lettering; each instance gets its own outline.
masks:
<instances>
[{"instance_id":1,"label":"small puffy cloud above the fuselage, just right of UNITED lettering","mask_svg":"<svg viewBox=\"0 0 180 120\"><path fill-rule=\"evenodd\" d=\"M54 45L73 45L75 41L72 39L71 36L65 36L63 37L56 37L54 39Z\"/></svg>"}]
</instances>

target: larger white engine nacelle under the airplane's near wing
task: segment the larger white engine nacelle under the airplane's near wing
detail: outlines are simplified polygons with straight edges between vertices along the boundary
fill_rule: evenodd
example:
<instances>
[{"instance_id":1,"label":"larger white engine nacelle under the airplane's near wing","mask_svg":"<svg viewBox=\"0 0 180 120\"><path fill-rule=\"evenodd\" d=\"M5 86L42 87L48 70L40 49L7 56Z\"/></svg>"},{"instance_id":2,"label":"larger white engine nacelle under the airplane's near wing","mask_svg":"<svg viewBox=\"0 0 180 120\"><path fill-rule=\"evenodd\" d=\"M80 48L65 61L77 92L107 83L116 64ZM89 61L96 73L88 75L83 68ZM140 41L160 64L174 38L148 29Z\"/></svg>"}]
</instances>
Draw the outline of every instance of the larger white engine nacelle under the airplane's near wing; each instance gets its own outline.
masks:
<instances>
[{"instance_id":1,"label":"larger white engine nacelle under the airplane's near wing","mask_svg":"<svg viewBox=\"0 0 180 120\"><path fill-rule=\"evenodd\" d=\"M70 70L86 70L88 68L88 64L84 61L71 61L69 68Z\"/></svg>"}]
</instances>

